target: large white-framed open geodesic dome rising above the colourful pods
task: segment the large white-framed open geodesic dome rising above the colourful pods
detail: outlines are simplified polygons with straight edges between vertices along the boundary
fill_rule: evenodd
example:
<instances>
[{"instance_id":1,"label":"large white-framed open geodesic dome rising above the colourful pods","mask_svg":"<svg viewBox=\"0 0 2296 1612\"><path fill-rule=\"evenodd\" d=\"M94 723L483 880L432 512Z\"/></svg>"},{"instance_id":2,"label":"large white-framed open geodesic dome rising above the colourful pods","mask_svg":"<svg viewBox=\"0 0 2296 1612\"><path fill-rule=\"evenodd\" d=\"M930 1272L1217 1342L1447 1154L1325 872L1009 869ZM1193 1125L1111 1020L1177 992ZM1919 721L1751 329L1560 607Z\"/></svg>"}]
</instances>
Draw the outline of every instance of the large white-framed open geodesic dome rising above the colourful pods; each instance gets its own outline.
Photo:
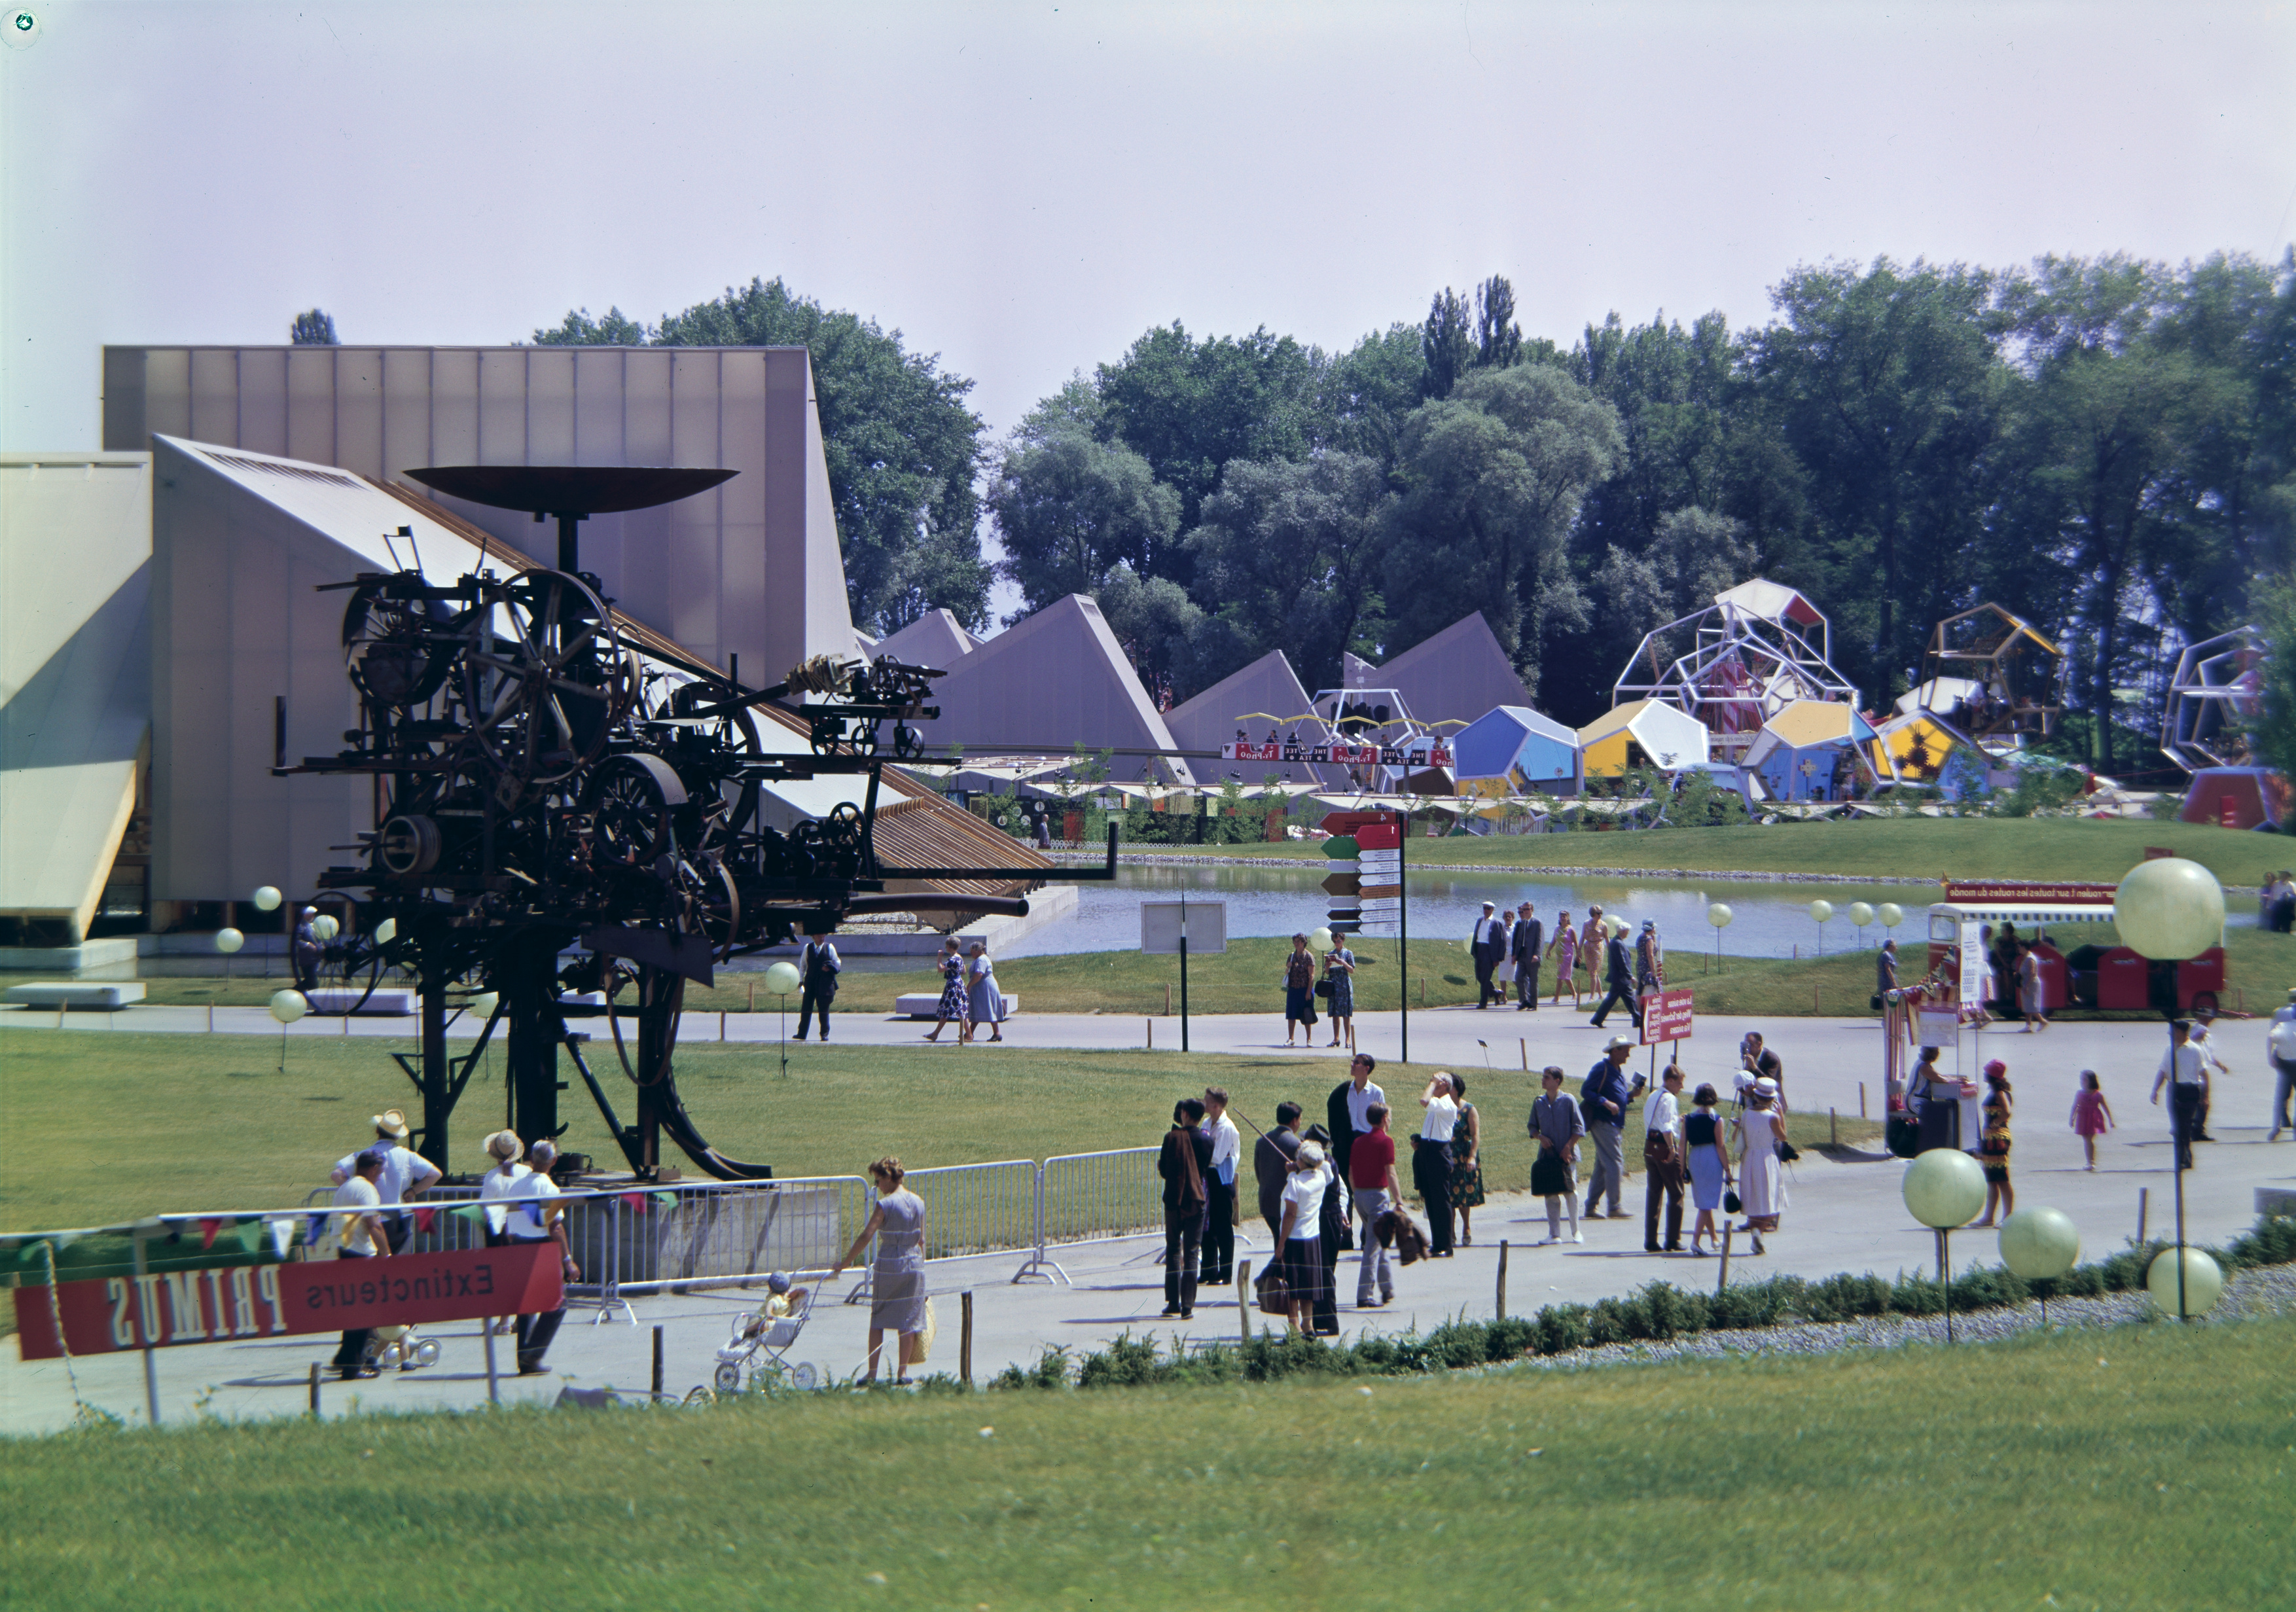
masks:
<instances>
[{"instance_id":1,"label":"large white-framed open geodesic dome rising above the colourful pods","mask_svg":"<svg viewBox=\"0 0 2296 1612\"><path fill-rule=\"evenodd\" d=\"M1807 595L1756 576L1646 631L1609 698L1619 707L1658 700L1688 714L1711 735L1713 758L1736 762L1761 726L1795 700L1857 703L1857 689L1825 659L1830 638L1825 613Z\"/></svg>"}]
</instances>

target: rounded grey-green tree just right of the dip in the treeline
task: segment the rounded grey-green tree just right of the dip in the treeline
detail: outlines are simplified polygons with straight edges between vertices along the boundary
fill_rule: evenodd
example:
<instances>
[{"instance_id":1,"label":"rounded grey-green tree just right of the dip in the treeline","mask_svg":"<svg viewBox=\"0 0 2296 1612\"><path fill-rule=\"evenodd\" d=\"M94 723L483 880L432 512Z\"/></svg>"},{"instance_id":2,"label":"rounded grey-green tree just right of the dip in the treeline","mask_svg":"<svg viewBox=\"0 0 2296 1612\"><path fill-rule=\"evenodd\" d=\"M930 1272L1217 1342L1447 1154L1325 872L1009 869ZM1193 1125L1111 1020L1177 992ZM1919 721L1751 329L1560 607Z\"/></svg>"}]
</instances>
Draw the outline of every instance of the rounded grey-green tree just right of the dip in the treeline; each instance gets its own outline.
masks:
<instances>
[{"instance_id":1,"label":"rounded grey-green tree just right of the dip in the treeline","mask_svg":"<svg viewBox=\"0 0 2296 1612\"><path fill-rule=\"evenodd\" d=\"M1180 530L1180 494L1141 455L1072 425L1008 445L987 505L1006 551L999 572L1019 586L1024 613L1097 592L1116 565L1153 574Z\"/></svg>"}]
</instances>

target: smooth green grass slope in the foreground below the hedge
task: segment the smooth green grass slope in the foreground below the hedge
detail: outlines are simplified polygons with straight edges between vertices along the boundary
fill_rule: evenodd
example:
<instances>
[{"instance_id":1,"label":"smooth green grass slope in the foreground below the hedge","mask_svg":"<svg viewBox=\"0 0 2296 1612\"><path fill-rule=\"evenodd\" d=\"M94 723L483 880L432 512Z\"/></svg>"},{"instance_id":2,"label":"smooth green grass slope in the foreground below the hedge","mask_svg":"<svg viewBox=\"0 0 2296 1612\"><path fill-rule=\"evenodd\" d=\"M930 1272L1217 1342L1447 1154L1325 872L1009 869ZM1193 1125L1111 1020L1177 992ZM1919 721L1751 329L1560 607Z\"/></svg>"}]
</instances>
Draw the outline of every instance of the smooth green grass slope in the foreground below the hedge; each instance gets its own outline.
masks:
<instances>
[{"instance_id":1,"label":"smooth green grass slope in the foreground below the hedge","mask_svg":"<svg viewBox=\"0 0 2296 1612\"><path fill-rule=\"evenodd\" d=\"M2275 1607L2296 1323L14 1442L23 1605ZM390 1587L388 1591L383 1587Z\"/></svg>"}]
</instances>

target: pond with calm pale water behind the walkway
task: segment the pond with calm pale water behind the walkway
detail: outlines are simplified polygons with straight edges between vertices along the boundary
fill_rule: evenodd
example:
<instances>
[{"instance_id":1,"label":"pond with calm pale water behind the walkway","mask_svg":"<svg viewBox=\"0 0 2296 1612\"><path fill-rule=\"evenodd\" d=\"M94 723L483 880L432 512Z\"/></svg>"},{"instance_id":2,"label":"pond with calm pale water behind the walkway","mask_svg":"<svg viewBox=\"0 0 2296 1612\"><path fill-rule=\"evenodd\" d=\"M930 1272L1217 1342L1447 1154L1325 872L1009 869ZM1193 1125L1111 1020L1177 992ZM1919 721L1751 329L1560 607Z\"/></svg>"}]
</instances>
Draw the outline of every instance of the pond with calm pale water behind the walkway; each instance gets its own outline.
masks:
<instances>
[{"instance_id":1,"label":"pond with calm pale water behind the walkway","mask_svg":"<svg viewBox=\"0 0 2296 1612\"><path fill-rule=\"evenodd\" d=\"M1077 951L1134 951L1141 944L1141 900L1224 900L1228 935L1293 935L1325 921L1325 870L1297 868L1228 868L1217 863L1123 866L1116 884L1079 884L1077 916L1013 941L1003 955L1033 958ZM1573 923L1587 919L1589 902L1605 914L1623 916L1635 928L1658 921L1669 953L1713 951L1715 932L1706 923L1711 902L1727 902L1733 919L1722 935L1722 948L1738 958L1791 958L1795 948L1809 955L1818 948L1818 925L1809 921L1812 900L1830 900L1835 919L1825 925L1825 951L1848 951L1860 944L1848 921L1853 900L1878 907L1894 900L1906 909L1899 925L1899 951L1913 939L1926 939L1924 909L1938 898L1936 884L1761 884L1715 879L1649 879L1632 873L1591 873L1580 877L1458 870L1412 870L1410 925L1412 939L1467 939L1483 902L1513 909L1529 900L1538 919L1554 932L1554 916L1568 912ZM1874 948L1887 937L1878 923L1864 930L1862 944Z\"/></svg>"}]
</instances>

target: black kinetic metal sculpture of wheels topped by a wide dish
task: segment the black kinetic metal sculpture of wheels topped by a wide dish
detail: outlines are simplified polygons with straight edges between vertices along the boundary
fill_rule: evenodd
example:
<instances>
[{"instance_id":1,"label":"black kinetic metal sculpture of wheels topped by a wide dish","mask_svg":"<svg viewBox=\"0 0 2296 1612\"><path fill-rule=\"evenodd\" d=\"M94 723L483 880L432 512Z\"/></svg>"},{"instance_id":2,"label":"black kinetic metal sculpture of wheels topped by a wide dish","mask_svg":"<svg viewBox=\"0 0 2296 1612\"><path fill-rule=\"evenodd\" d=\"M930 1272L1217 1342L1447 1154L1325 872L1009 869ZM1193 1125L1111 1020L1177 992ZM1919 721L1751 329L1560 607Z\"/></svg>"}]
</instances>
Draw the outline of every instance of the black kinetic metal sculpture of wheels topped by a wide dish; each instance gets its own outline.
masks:
<instances>
[{"instance_id":1,"label":"black kinetic metal sculpture of wheels topped by a wide dish","mask_svg":"<svg viewBox=\"0 0 2296 1612\"><path fill-rule=\"evenodd\" d=\"M422 1091L422 1150L445 1167L448 1116L496 1026L507 1040L507 1123L553 1137L558 1049L590 1086L608 1130L641 1178L661 1169L668 1132L721 1180L771 1176L712 1148L687 1116L673 1077L687 981L714 964L833 930L866 912L1024 914L1026 898L905 891L886 879L1022 879L1042 868L886 868L872 827L889 758L921 753L932 680L923 666L815 657L765 689L643 650L613 615L599 579L579 569L576 524L723 482L730 471L450 466L409 471L473 503L558 517L558 567L517 576L478 572L439 586L420 569L333 583L344 668L360 696L360 728L335 755L308 755L276 776L367 774L377 806L358 866L331 868L324 889L365 891L377 916L372 969L418 978L422 1054L400 1059ZM739 668L735 668L737 673ZM815 696L815 703L799 703ZM801 726L808 749L760 744L758 710ZM886 728L891 726L891 733ZM799 822L760 820L760 788L785 778L866 774L859 806ZM1104 870L1114 877L1109 836ZM581 944L572 960L563 953ZM450 990L491 990L498 1003L478 1045L448 1059ZM565 997L597 994L604 1006ZM567 1017L606 1017L638 1088L622 1125L583 1059L588 1036ZM625 1022L634 1036L625 1038Z\"/></svg>"}]
</instances>

